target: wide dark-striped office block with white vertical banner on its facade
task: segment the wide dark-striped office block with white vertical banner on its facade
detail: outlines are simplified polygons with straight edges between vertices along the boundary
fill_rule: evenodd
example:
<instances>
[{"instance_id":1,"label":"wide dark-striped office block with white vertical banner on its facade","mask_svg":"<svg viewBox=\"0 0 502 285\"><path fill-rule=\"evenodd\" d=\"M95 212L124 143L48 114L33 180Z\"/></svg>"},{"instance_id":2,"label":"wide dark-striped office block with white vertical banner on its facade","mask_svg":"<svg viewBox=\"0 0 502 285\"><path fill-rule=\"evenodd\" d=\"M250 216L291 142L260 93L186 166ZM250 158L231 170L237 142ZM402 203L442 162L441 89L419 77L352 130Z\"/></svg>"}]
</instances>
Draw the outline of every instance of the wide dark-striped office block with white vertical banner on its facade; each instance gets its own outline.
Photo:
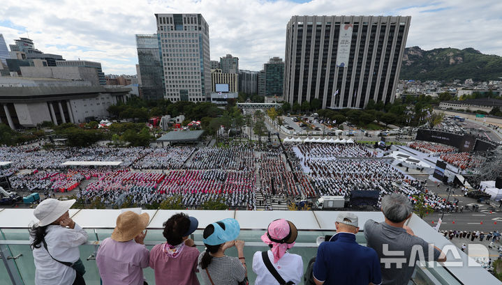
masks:
<instances>
[{"instance_id":1,"label":"wide dark-striped office block with white vertical banner on its facade","mask_svg":"<svg viewBox=\"0 0 502 285\"><path fill-rule=\"evenodd\" d=\"M286 100L323 108L393 102L411 17L293 16L286 27Z\"/></svg>"}]
</instances>

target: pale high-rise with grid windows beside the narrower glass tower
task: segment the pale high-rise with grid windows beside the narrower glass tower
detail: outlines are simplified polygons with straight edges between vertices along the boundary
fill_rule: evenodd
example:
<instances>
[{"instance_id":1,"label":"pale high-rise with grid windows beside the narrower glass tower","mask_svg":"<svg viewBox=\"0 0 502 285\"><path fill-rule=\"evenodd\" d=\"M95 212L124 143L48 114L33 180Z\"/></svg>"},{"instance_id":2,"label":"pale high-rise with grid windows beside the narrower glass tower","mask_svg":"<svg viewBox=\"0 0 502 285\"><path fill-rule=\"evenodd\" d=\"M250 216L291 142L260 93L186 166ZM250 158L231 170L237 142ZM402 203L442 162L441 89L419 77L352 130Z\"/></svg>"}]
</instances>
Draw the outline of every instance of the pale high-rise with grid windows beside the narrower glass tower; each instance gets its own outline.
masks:
<instances>
[{"instance_id":1,"label":"pale high-rise with grid windows beside the narrower glass tower","mask_svg":"<svg viewBox=\"0 0 502 285\"><path fill-rule=\"evenodd\" d=\"M155 14L165 98L206 101L211 94L209 25L200 14Z\"/></svg>"}]
</instances>

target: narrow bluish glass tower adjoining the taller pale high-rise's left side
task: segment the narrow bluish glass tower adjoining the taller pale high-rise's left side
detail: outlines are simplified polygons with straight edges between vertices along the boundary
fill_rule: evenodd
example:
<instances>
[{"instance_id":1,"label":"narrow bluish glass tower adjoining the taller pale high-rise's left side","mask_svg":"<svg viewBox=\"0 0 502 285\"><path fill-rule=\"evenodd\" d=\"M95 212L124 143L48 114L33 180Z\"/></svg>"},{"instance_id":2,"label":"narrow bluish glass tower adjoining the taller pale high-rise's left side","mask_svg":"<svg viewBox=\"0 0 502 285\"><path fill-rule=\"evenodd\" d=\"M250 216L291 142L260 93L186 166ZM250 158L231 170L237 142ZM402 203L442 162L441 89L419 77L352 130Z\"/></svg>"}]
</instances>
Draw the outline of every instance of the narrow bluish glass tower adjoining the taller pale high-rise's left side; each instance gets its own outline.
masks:
<instances>
[{"instance_id":1,"label":"narrow bluish glass tower adjoining the taller pale high-rise's left side","mask_svg":"<svg viewBox=\"0 0 502 285\"><path fill-rule=\"evenodd\" d=\"M146 100L165 98L164 73L158 49L158 35L136 35L138 49L138 79L141 97Z\"/></svg>"}]
</instances>

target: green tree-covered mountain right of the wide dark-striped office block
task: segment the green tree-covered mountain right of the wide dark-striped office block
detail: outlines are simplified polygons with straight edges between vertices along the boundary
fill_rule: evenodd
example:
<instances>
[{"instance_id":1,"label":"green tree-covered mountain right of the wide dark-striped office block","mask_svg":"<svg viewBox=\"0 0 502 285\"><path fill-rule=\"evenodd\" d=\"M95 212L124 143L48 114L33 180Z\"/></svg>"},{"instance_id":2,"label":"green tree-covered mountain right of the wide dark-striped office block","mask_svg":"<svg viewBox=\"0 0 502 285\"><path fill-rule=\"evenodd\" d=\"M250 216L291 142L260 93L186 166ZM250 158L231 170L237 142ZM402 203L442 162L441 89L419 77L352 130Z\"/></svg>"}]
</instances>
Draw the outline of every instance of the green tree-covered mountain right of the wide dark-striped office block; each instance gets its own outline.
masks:
<instances>
[{"instance_id":1,"label":"green tree-covered mountain right of the wide dark-striped office block","mask_svg":"<svg viewBox=\"0 0 502 285\"><path fill-rule=\"evenodd\" d=\"M441 48L422 50L406 47L400 79L474 81L501 80L502 56L482 54L478 50Z\"/></svg>"}]
</instances>

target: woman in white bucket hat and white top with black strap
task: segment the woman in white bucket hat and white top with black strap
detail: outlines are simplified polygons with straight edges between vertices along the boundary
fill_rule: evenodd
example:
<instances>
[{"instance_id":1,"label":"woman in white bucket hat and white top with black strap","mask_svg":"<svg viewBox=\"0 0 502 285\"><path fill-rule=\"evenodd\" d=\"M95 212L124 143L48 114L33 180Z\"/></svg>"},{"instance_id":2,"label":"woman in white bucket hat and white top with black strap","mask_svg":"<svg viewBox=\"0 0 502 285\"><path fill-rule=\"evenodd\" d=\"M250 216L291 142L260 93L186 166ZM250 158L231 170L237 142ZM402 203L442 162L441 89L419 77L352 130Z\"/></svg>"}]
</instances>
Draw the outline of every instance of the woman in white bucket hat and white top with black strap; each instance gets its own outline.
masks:
<instances>
[{"instance_id":1,"label":"woman in white bucket hat and white top with black strap","mask_svg":"<svg viewBox=\"0 0 502 285\"><path fill-rule=\"evenodd\" d=\"M68 214L73 203L75 200L45 199L34 211L38 223L31 226L30 245L36 285L85 284L78 246L87 242L88 236Z\"/></svg>"}]
</instances>

